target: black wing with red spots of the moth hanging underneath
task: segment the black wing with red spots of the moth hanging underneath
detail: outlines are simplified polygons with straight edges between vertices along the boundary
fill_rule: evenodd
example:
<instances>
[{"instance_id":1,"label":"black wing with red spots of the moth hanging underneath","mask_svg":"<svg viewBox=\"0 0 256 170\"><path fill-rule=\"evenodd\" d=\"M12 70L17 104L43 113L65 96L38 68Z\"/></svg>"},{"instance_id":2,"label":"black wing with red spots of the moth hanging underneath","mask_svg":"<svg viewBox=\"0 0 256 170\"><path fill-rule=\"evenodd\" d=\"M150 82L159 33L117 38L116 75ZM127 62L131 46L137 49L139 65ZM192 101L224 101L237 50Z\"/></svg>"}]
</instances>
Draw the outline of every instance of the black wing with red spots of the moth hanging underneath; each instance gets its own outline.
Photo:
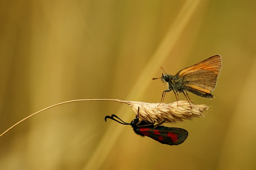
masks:
<instances>
[{"instance_id":1,"label":"black wing with red spots of the moth hanging underneath","mask_svg":"<svg viewBox=\"0 0 256 170\"><path fill-rule=\"evenodd\" d=\"M156 129L153 128L136 128L135 133L140 136L150 137L161 144L179 145L183 143L188 137L188 131L180 128L169 128L165 126L159 126Z\"/></svg>"}]
</instances>

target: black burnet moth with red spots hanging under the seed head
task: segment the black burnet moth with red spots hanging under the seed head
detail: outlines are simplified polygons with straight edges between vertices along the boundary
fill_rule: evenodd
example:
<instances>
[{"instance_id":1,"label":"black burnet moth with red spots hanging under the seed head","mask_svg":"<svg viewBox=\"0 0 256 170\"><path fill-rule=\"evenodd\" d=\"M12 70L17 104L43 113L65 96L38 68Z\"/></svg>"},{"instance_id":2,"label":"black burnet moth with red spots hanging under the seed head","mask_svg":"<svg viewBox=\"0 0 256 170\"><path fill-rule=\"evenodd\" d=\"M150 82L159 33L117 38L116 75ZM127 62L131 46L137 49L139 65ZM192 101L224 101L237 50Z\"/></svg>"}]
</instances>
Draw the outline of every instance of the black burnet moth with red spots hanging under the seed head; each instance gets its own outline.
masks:
<instances>
[{"instance_id":1,"label":"black burnet moth with red spots hanging under the seed head","mask_svg":"<svg viewBox=\"0 0 256 170\"><path fill-rule=\"evenodd\" d=\"M150 137L156 140L157 142L160 142L161 144L179 145L183 143L188 137L188 131L185 129L160 126L164 122L154 125L154 122L148 124L148 122L139 121L139 108L138 116L136 116L136 118L133 119L131 123L126 123L122 121L119 117L117 117L114 114L111 116L106 116L105 122L107 122L108 118L124 125L131 125L133 131L136 134L140 135L141 137ZM119 122L115 118L119 119L121 122Z\"/></svg>"}]
</instances>

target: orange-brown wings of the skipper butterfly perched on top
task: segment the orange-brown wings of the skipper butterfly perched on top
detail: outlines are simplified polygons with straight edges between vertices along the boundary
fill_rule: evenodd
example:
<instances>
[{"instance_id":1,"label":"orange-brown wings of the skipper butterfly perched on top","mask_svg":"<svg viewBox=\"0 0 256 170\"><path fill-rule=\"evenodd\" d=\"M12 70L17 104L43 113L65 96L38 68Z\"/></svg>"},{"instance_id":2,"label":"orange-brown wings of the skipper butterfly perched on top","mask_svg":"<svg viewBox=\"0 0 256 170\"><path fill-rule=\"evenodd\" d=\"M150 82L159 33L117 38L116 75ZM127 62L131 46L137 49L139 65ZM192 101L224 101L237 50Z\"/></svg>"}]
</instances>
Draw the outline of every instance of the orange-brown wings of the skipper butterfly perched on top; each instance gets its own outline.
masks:
<instances>
[{"instance_id":1,"label":"orange-brown wings of the skipper butterfly perched on top","mask_svg":"<svg viewBox=\"0 0 256 170\"><path fill-rule=\"evenodd\" d=\"M195 65L180 70L176 76L184 80L184 85L202 94L211 93L222 67L220 55L214 55Z\"/></svg>"}]
</instances>

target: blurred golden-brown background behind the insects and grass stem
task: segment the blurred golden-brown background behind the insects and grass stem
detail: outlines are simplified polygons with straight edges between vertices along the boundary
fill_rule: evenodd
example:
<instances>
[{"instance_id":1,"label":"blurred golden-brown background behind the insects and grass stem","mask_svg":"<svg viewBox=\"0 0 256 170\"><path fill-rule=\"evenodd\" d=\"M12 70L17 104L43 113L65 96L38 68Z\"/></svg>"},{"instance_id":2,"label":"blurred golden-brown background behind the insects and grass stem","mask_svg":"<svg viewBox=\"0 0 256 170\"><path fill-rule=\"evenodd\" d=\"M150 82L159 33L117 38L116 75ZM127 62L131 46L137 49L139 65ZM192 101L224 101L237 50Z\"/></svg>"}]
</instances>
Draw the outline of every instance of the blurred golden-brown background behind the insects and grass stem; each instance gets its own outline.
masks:
<instances>
[{"instance_id":1,"label":"blurred golden-brown background behind the insects and grass stem","mask_svg":"<svg viewBox=\"0 0 256 170\"><path fill-rule=\"evenodd\" d=\"M204 118L178 146L136 135L132 109L86 101L46 110L0 138L1 169L256 169L255 1L1 1L1 133L75 99L160 102L162 70L212 55L223 69ZM180 95L180 100L186 100ZM176 101L173 92L164 102Z\"/></svg>"}]
</instances>

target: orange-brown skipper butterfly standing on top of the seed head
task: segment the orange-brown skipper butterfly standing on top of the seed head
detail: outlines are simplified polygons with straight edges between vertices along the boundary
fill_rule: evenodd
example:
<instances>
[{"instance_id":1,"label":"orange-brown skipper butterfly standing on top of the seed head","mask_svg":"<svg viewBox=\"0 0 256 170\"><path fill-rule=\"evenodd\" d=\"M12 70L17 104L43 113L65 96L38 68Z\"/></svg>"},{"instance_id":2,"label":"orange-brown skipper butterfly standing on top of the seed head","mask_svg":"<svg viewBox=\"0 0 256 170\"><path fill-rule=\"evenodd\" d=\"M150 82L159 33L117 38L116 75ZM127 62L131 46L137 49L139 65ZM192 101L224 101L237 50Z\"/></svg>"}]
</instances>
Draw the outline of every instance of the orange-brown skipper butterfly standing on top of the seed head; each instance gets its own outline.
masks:
<instances>
[{"instance_id":1,"label":"orange-brown skipper butterfly standing on top of the seed head","mask_svg":"<svg viewBox=\"0 0 256 170\"><path fill-rule=\"evenodd\" d=\"M183 93L188 100L188 92L209 99L214 98L211 92L216 87L221 68L222 57L220 55L213 55L204 61L180 70L176 75L167 74L161 67L165 74L162 73L160 78L168 86L168 89L162 94L161 102L164 100L165 93L170 91L174 92L177 101L179 100L179 93Z\"/></svg>"}]
</instances>

